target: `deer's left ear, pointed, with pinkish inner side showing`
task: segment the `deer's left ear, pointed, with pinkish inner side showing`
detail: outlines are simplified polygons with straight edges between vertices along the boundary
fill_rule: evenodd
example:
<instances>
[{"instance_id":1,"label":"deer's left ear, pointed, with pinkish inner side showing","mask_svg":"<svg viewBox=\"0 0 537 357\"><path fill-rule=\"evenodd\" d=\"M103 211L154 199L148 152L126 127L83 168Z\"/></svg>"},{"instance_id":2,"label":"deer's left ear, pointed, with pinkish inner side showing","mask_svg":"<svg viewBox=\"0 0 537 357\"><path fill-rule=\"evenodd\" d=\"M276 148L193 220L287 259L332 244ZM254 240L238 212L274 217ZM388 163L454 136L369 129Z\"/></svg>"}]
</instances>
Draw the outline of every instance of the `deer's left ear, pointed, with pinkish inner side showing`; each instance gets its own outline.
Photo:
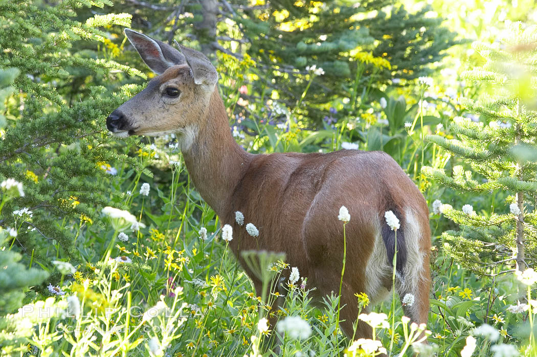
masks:
<instances>
[{"instance_id":1,"label":"deer's left ear, pointed, with pinkish inner side showing","mask_svg":"<svg viewBox=\"0 0 537 357\"><path fill-rule=\"evenodd\" d=\"M129 28L126 28L124 32L142 57L143 62L146 62L151 71L157 75L162 75L172 65L186 63L185 56L169 44Z\"/></svg>"}]
</instances>

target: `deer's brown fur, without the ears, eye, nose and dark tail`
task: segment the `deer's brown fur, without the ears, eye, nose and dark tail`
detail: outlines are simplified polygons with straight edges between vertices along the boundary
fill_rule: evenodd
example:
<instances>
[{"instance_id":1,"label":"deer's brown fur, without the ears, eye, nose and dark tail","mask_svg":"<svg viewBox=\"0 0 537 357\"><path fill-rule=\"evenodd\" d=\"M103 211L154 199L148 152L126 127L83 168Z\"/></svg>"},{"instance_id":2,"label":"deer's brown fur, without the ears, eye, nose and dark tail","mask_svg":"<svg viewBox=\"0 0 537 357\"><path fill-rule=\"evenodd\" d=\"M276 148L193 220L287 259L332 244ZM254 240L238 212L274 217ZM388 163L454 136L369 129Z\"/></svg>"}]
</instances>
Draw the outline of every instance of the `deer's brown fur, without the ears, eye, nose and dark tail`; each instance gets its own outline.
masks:
<instances>
[{"instance_id":1,"label":"deer's brown fur, without the ears, eye, nose and dark tail","mask_svg":"<svg viewBox=\"0 0 537 357\"><path fill-rule=\"evenodd\" d=\"M175 84L183 99L166 105L158 88ZM147 91L147 92L146 92ZM261 294L261 282L241 258L242 250L283 251L287 262L298 267L308 286L316 287L316 301L339 290L343 261L341 206L351 215L346 225L347 255L342 288L342 328L352 336L357 319L355 293L366 292L368 281L379 280L391 288L391 272L366 277L376 239L387 207L395 207L405 232L405 244L417 242L423 255L419 284L412 291L401 285L398 292L412 293L415 309L405 309L412 321L427 322L429 311L429 210L416 185L386 153L342 150L320 153L245 152L230 134L228 116L219 92L200 93L185 66L172 66L153 79L148 88L119 109L125 113L132 134L176 128L195 128L195 140L183 148L188 172L206 202L223 224L233 226L230 248ZM146 93L144 93L146 92ZM143 113L143 114L142 114ZM131 133L131 132L129 132ZM410 210L419 227L418 236L408 234L405 212ZM259 229L251 237L235 222L241 211L245 224ZM407 265L416 264L409 255ZM386 259L387 260L387 259ZM391 264L391 262L389 262ZM406 289L406 290L405 290ZM401 298L403 295L401 295ZM357 337L371 338L371 328L359 324Z\"/></svg>"}]
</instances>

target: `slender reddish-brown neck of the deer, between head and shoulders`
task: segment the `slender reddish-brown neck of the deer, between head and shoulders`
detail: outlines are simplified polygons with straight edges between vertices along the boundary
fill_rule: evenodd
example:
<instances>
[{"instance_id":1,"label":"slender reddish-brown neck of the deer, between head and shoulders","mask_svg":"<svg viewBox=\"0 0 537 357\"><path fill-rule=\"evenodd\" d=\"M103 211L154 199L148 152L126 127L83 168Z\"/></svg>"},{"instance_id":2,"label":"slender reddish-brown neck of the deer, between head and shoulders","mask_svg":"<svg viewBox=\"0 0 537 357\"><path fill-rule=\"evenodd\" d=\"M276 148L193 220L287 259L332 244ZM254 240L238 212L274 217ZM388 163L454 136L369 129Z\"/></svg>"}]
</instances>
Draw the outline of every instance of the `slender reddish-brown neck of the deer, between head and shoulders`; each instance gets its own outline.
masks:
<instances>
[{"instance_id":1,"label":"slender reddish-brown neck of the deer, between head and shoulders","mask_svg":"<svg viewBox=\"0 0 537 357\"><path fill-rule=\"evenodd\" d=\"M253 155L231 136L226 108L217 88L200 123L194 142L183 151L186 167L205 202L217 214L227 215L231 195Z\"/></svg>"}]
</instances>

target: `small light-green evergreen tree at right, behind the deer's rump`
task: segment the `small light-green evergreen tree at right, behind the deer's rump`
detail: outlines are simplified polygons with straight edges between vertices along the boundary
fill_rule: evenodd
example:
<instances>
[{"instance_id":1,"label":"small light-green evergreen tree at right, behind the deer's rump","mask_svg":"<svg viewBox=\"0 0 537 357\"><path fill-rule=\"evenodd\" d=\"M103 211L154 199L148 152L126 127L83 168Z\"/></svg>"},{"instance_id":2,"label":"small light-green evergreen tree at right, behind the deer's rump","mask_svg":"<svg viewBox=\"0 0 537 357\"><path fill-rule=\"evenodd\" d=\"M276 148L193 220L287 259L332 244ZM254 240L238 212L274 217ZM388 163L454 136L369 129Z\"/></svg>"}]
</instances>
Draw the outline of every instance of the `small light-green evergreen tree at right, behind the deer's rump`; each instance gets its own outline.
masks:
<instances>
[{"instance_id":1,"label":"small light-green evergreen tree at right, behind the deer's rump","mask_svg":"<svg viewBox=\"0 0 537 357\"><path fill-rule=\"evenodd\" d=\"M462 266L490 273L490 267L516 262L525 270L535 262L537 244L537 27L521 23L508 26L502 42L475 42L484 64L463 73L467 80L487 85L491 93L467 101L469 111L483 122L456 117L451 131L456 139L427 139L462 158L453 175L424 167L426 176L459 192L488 194L505 191L509 196L498 212L480 215L465 205L462 211L449 205L442 213L461 226L442 234L444 248ZM496 207L495 207L496 209Z\"/></svg>"}]
</instances>

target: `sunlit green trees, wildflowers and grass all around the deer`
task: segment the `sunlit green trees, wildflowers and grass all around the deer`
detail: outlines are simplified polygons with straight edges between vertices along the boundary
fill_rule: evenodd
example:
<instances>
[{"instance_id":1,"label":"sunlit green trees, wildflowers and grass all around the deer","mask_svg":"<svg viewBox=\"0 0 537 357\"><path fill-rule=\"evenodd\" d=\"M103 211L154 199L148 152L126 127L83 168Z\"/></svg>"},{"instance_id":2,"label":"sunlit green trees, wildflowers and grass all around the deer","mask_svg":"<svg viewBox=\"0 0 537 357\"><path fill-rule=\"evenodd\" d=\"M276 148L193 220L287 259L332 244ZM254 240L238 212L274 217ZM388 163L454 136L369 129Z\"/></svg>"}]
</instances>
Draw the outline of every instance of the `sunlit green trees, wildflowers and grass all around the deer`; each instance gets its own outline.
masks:
<instances>
[{"instance_id":1,"label":"sunlit green trees, wildflowers and grass all around the deer","mask_svg":"<svg viewBox=\"0 0 537 357\"><path fill-rule=\"evenodd\" d=\"M0 354L537 355L537 11L427 3L223 1L212 51L198 3L0 0ZM243 252L265 285L284 279L256 295L175 135L106 130L154 76L131 26L208 51L245 150L401 165L430 207L425 326L395 298L358 317L371 338L344 337L338 292L310 306L280 252Z\"/></svg>"}]
</instances>

